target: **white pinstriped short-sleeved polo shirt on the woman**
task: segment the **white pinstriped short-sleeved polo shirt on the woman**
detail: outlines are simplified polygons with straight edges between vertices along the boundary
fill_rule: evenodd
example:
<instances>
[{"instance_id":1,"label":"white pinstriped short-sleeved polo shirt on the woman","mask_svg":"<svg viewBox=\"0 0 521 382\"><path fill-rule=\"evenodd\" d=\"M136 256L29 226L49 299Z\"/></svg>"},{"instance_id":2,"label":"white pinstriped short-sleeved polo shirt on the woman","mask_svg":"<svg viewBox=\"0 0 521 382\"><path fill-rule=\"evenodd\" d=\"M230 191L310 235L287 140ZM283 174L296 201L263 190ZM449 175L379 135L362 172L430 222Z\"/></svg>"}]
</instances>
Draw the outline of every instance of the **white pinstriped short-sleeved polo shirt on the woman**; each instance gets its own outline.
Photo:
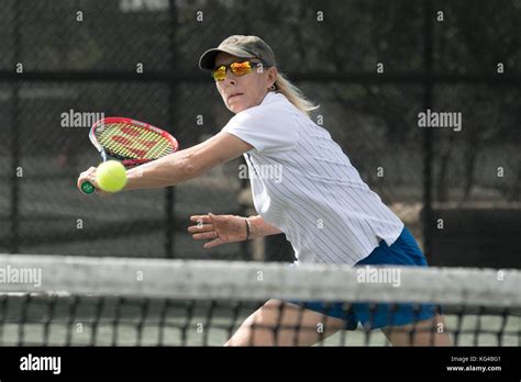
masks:
<instances>
[{"instance_id":1,"label":"white pinstriped short-sleeved polo shirt on the woman","mask_svg":"<svg viewBox=\"0 0 521 382\"><path fill-rule=\"evenodd\" d=\"M330 133L285 96L268 92L222 132L254 147L244 157L255 209L286 234L297 262L354 265L403 229Z\"/></svg>"}]
</instances>

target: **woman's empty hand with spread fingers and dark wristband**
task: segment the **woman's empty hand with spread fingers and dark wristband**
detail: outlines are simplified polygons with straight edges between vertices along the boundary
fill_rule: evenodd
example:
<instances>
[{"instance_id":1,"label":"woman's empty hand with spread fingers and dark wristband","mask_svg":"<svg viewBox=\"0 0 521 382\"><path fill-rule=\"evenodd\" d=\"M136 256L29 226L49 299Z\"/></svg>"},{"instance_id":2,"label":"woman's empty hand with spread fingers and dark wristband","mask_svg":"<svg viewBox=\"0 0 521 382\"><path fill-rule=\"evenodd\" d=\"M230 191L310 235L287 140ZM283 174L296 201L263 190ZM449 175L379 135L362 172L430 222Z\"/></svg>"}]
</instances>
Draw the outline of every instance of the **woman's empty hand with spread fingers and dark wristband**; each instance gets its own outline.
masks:
<instances>
[{"instance_id":1,"label":"woman's empty hand with spread fingers and dark wristband","mask_svg":"<svg viewBox=\"0 0 521 382\"><path fill-rule=\"evenodd\" d=\"M210 240L204 248L212 248L226 243L246 240L246 218L236 215L193 215L190 221L195 225L188 227L196 240Z\"/></svg>"}]
</instances>

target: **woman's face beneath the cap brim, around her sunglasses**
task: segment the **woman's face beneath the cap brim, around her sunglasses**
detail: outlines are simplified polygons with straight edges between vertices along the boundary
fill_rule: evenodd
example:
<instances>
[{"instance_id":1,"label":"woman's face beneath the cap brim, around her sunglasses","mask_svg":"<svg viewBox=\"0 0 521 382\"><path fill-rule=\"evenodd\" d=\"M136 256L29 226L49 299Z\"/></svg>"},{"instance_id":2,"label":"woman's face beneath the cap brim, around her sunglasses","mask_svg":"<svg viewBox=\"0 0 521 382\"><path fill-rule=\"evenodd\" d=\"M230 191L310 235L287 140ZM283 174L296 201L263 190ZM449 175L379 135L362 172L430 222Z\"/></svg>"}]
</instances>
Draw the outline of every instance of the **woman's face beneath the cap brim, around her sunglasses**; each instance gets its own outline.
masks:
<instances>
[{"instance_id":1,"label":"woman's face beneath the cap brim, around her sunglasses","mask_svg":"<svg viewBox=\"0 0 521 382\"><path fill-rule=\"evenodd\" d=\"M239 58L221 52L215 57L215 67L245 60L260 61L255 57ZM259 72L257 67L254 66L252 72L244 76L235 76L228 69L226 78L222 81L215 81L215 86L226 108L236 114L260 104L268 89L275 83L276 78L277 69L274 67L263 68L263 71Z\"/></svg>"}]
</instances>

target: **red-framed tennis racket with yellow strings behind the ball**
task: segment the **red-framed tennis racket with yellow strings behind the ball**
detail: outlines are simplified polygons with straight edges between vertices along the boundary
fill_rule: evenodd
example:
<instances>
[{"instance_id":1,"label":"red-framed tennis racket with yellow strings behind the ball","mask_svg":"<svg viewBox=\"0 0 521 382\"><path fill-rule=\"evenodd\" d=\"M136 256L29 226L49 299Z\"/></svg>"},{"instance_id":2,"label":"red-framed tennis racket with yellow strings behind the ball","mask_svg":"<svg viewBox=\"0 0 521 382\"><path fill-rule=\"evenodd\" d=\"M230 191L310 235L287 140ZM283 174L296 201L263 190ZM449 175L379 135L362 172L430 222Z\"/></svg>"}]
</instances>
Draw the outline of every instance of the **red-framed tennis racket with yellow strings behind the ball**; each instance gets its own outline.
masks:
<instances>
[{"instance_id":1,"label":"red-framed tennis racket with yellow strings behind the ball","mask_svg":"<svg viewBox=\"0 0 521 382\"><path fill-rule=\"evenodd\" d=\"M90 142L103 161L115 159L132 168L177 151L179 144L167 132L147 123L112 116L99 120L90 128ZM89 181L81 191L90 194L96 188Z\"/></svg>"}]
</instances>

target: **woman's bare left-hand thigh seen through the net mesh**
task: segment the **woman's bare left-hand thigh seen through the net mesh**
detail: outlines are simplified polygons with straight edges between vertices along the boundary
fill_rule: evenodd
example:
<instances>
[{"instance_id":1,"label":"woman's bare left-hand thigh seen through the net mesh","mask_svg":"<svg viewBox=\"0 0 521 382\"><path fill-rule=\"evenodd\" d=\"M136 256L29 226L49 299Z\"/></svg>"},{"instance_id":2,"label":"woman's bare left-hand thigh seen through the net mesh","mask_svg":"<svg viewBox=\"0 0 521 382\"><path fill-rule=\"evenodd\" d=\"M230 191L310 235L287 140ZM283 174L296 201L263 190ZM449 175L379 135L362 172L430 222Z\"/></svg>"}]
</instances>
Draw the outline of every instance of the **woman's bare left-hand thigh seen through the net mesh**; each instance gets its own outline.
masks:
<instances>
[{"instance_id":1,"label":"woman's bare left-hand thigh seen through the net mesh","mask_svg":"<svg viewBox=\"0 0 521 382\"><path fill-rule=\"evenodd\" d=\"M345 328L346 322L280 300L255 311L226 346L310 346Z\"/></svg>"}]
</instances>

